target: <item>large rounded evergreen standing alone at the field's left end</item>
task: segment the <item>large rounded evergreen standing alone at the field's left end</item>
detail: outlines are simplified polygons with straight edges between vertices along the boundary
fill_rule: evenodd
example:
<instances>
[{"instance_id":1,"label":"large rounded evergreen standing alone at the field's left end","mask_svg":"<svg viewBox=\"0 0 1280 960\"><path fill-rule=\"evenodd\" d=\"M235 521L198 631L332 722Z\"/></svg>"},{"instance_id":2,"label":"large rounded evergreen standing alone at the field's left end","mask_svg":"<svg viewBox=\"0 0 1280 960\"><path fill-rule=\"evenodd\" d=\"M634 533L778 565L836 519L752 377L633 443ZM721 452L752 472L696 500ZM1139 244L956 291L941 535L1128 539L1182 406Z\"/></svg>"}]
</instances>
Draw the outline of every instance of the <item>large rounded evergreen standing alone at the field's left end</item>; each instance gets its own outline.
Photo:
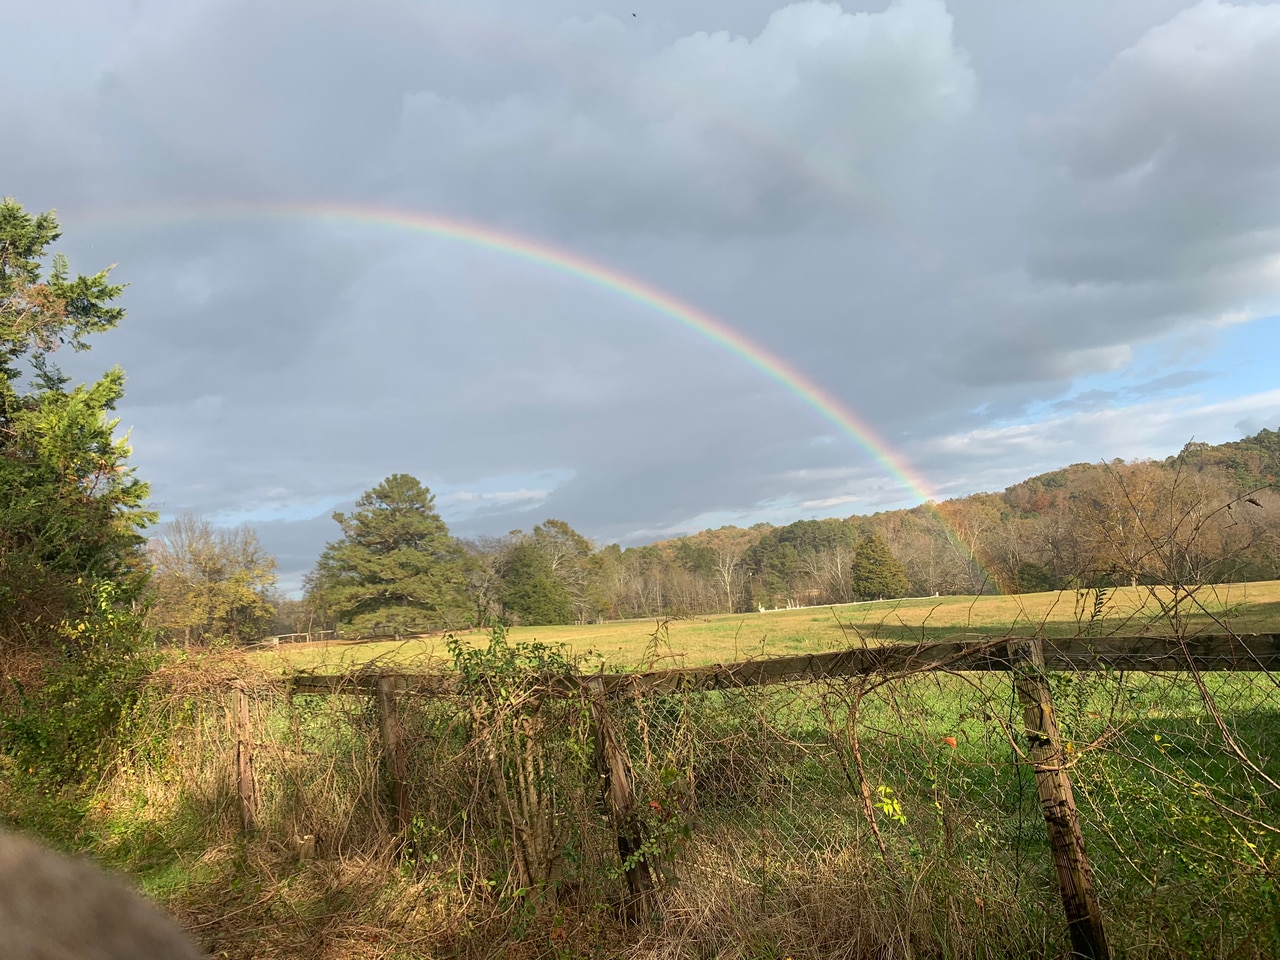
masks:
<instances>
[{"instance_id":1,"label":"large rounded evergreen standing alone at the field's left end","mask_svg":"<svg viewBox=\"0 0 1280 960\"><path fill-rule=\"evenodd\" d=\"M415 477L394 474L334 513L343 538L320 556L310 595L339 623L396 631L454 626L468 613L468 558Z\"/></svg>"}]
</instances>

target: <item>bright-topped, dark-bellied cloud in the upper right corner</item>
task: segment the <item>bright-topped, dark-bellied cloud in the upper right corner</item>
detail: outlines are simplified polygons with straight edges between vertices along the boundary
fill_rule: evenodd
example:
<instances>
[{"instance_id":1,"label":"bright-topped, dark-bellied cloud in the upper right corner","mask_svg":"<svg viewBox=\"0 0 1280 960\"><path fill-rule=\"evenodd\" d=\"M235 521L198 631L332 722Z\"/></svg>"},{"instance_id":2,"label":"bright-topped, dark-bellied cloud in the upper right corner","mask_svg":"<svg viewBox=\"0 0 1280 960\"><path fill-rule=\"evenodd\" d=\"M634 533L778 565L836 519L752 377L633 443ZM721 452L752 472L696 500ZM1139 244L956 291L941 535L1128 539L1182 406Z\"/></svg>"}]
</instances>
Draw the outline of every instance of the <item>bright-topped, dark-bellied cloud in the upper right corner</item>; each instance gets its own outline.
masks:
<instances>
[{"instance_id":1,"label":"bright-topped, dark-bellied cloud in the upper right corner","mask_svg":"<svg viewBox=\"0 0 1280 960\"><path fill-rule=\"evenodd\" d=\"M1036 140L1059 164L1034 212L1053 282L1275 288L1280 8L1206 0L1124 50Z\"/></svg>"}]
</instances>

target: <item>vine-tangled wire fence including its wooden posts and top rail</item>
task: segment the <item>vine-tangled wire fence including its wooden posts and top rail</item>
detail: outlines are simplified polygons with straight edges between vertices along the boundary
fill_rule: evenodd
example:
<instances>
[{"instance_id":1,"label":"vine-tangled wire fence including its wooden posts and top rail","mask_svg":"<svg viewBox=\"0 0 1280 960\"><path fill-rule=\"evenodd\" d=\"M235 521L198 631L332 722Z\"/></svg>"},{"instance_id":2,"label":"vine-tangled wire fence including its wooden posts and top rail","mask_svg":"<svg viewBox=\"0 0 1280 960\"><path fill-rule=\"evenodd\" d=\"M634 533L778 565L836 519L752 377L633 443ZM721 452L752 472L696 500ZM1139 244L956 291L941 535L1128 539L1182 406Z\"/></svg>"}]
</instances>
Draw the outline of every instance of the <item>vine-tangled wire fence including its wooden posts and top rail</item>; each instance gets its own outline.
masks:
<instances>
[{"instance_id":1,"label":"vine-tangled wire fence including its wooden posts and top rail","mask_svg":"<svg viewBox=\"0 0 1280 960\"><path fill-rule=\"evenodd\" d=\"M186 803L394 849L460 916L600 909L668 956L1280 955L1277 636L219 689L169 700Z\"/></svg>"}]
</instances>

